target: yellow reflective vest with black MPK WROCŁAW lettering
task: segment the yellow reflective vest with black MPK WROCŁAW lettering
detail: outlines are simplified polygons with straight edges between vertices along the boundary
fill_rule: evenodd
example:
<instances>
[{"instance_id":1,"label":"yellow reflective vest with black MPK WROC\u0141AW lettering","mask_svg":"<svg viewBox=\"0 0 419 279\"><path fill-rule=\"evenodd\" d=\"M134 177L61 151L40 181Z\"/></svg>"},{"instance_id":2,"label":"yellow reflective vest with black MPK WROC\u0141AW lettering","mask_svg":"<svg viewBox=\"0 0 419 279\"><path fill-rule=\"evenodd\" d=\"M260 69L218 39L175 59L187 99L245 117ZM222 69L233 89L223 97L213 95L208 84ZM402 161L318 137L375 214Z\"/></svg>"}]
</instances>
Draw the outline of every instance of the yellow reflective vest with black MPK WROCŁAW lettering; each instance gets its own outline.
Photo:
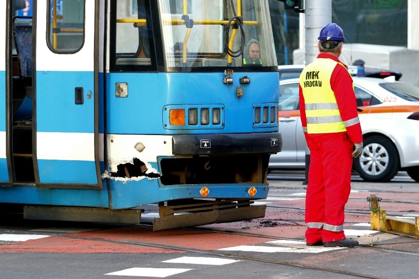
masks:
<instances>
[{"instance_id":1,"label":"yellow reflective vest with black MPK WROC\u0141AW lettering","mask_svg":"<svg viewBox=\"0 0 419 279\"><path fill-rule=\"evenodd\" d=\"M337 63L329 58L317 58L304 68L299 77L308 134L346 131L330 87L330 77Z\"/></svg>"}]
</instances>

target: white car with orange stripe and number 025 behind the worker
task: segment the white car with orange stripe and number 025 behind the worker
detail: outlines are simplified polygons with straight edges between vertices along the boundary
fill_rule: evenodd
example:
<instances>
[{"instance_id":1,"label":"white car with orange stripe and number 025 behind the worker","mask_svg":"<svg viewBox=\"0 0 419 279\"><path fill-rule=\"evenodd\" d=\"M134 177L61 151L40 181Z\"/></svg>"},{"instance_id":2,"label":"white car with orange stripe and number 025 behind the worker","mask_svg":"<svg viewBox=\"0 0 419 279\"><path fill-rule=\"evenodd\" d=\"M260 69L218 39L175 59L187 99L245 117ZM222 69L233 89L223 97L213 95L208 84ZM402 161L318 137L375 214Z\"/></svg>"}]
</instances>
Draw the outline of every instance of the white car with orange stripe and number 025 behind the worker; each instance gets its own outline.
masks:
<instances>
[{"instance_id":1,"label":"white car with orange stripe and number 025 behind the worker","mask_svg":"<svg viewBox=\"0 0 419 279\"><path fill-rule=\"evenodd\" d=\"M391 79L353 77L363 134L354 169L370 182L389 181L406 170L419 182L419 87ZM306 142L299 113L299 80L280 81L279 131L282 151L270 156L270 169L305 168Z\"/></svg>"}]
</instances>

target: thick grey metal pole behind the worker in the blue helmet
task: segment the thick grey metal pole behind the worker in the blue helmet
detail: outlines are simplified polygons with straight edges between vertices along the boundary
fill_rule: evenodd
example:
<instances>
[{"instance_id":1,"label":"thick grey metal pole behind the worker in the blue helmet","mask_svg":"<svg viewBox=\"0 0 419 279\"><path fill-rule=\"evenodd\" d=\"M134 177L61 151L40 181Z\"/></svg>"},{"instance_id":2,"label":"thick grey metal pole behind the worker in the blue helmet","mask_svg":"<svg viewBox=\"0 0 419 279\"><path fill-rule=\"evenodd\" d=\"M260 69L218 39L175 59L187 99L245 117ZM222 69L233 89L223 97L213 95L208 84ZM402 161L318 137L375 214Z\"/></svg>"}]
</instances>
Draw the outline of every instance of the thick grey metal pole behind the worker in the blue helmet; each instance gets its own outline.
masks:
<instances>
[{"instance_id":1,"label":"thick grey metal pole behind the worker in the blue helmet","mask_svg":"<svg viewBox=\"0 0 419 279\"><path fill-rule=\"evenodd\" d=\"M317 39L320 30L331 23L331 0L305 0L305 65L313 62L319 50ZM310 150L305 148L305 181L308 184L308 167L310 166Z\"/></svg>"}]
</instances>

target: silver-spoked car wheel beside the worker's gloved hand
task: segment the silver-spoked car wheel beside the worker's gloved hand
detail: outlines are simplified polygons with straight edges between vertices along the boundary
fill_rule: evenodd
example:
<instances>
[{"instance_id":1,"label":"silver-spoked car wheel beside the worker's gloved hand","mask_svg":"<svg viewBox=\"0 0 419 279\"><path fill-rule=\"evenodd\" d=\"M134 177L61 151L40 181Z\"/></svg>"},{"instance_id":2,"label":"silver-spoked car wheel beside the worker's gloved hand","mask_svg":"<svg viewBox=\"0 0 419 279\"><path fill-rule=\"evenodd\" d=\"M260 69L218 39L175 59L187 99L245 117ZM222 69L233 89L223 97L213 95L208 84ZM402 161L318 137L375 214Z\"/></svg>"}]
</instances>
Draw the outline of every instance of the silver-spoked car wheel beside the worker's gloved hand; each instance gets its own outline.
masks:
<instances>
[{"instance_id":1,"label":"silver-spoked car wheel beside the worker's gloved hand","mask_svg":"<svg viewBox=\"0 0 419 279\"><path fill-rule=\"evenodd\" d=\"M354 168L363 180L387 182L400 167L396 147L384 137L373 136L363 141L362 155L354 160Z\"/></svg>"}]
</instances>

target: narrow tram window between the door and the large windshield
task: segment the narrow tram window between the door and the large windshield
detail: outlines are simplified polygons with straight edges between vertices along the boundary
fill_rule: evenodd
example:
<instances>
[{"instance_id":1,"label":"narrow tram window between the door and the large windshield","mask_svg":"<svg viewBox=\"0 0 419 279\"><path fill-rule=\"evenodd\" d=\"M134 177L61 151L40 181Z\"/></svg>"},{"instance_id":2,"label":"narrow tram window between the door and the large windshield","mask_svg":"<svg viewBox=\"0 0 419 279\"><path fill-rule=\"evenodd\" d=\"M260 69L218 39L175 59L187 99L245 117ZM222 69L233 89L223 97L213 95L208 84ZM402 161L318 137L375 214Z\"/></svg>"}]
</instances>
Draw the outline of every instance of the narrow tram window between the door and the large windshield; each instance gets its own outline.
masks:
<instances>
[{"instance_id":1,"label":"narrow tram window between the door and the large windshield","mask_svg":"<svg viewBox=\"0 0 419 279\"><path fill-rule=\"evenodd\" d=\"M144 0L118 0L116 13L115 64L149 66L150 23Z\"/></svg>"}]
</instances>

